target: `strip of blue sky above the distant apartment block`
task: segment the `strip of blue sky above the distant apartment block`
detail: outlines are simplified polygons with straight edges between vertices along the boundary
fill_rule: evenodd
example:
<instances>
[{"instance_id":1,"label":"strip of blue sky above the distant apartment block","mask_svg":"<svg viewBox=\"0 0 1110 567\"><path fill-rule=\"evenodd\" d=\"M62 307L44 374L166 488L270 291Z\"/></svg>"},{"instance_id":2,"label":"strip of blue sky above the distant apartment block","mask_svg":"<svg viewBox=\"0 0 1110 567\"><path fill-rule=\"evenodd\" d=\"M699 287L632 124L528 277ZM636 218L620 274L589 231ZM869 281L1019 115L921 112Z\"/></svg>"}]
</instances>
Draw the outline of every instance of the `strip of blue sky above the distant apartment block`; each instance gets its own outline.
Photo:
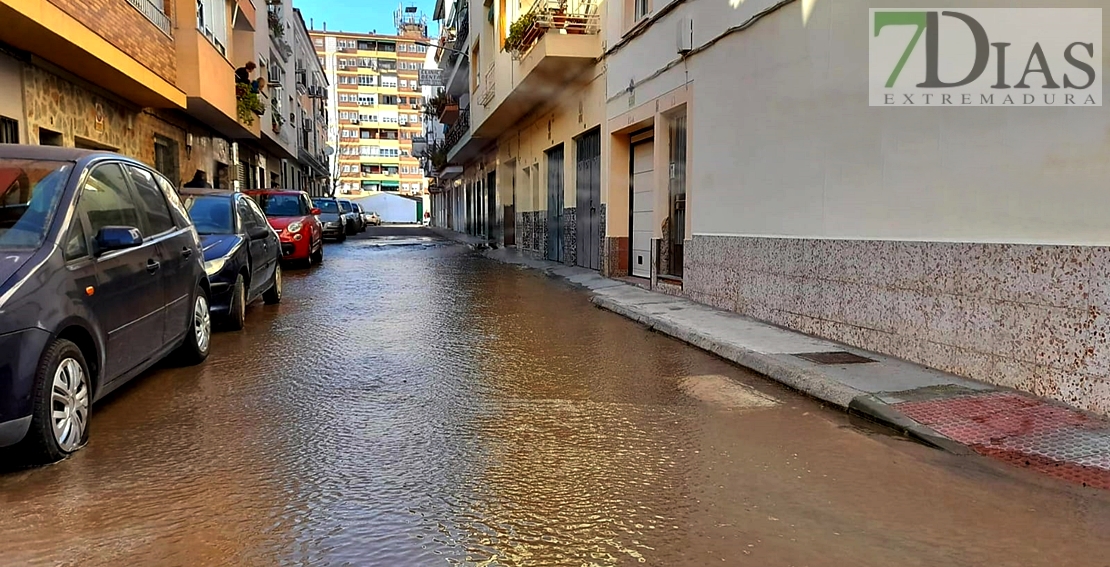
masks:
<instances>
[{"instance_id":1,"label":"strip of blue sky above the distant apartment block","mask_svg":"<svg viewBox=\"0 0 1110 567\"><path fill-rule=\"evenodd\" d=\"M432 21L435 0L405 0L404 6L416 6L427 16L428 34L438 36L438 26ZM394 34L393 12L401 8L401 1L393 0L293 0L293 7L301 9L304 23L314 24L319 30L327 22L331 31L351 31ZM310 26L311 26L310 24Z\"/></svg>"}]
</instances>

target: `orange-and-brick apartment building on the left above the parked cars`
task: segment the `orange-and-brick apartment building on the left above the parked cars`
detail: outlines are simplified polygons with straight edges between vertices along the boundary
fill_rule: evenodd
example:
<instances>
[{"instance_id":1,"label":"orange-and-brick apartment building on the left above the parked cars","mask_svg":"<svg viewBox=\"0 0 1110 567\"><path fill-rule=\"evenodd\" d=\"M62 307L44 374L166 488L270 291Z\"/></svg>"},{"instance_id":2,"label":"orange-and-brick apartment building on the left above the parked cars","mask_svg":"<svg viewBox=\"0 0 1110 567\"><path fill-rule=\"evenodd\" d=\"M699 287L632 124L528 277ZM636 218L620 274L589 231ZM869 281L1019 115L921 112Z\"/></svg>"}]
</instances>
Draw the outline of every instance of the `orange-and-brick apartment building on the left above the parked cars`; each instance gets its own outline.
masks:
<instances>
[{"instance_id":1,"label":"orange-and-brick apartment building on the left above the parked cars","mask_svg":"<svg viewBox=\"0 0 1110 567\"><path fill-rule=\"evenodd\" d=\"M272 91L235 82L260 45L274 51L253 1L0 0L0 141L117 151L181 183L269 184Z\"/></svg>"}]
</instances>

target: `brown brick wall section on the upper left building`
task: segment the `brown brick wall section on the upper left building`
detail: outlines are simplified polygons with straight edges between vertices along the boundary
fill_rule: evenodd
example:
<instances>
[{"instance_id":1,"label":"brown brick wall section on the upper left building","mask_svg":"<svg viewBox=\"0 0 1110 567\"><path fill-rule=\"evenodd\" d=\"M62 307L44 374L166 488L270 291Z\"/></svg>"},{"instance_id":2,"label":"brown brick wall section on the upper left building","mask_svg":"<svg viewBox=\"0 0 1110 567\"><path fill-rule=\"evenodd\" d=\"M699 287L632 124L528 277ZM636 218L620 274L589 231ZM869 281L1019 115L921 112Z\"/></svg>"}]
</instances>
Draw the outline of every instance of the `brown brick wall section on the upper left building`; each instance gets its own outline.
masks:
<instances>
[{"instance_id":1,"label":"brown brick wall section on the upper left building","mask_svg":"<svg viewBox=\"0 0 1110 567\"><path fill-rule=\"evenodd\" d=\"M173 40L127 0L50 0L50 3L85 24L162 79L176 83L178 55ZM165 1L168 12L172 3L171 0Z\"/></svg>"}]
</instances>

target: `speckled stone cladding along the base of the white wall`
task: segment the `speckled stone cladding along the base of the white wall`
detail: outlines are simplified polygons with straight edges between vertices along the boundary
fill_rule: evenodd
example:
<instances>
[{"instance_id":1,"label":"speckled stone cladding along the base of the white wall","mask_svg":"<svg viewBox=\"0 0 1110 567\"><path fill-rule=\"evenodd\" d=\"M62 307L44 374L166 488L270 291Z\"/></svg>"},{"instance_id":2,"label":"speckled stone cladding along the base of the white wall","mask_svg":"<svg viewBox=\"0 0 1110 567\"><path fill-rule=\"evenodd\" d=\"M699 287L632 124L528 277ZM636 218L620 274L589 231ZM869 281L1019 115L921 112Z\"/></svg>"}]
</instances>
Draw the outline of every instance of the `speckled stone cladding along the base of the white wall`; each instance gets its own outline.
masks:
<instances>
[{"instance_id":1,"label":"speckled stone cladding along the base of the white wall","mask_svg":"<svg viewBox=\"0 0 1110 567\"><path fill-rule=\"evenodd\" d=\"M694 236L685 294L1110 414L1110 247Z\"/></svg>"}]
</instances>

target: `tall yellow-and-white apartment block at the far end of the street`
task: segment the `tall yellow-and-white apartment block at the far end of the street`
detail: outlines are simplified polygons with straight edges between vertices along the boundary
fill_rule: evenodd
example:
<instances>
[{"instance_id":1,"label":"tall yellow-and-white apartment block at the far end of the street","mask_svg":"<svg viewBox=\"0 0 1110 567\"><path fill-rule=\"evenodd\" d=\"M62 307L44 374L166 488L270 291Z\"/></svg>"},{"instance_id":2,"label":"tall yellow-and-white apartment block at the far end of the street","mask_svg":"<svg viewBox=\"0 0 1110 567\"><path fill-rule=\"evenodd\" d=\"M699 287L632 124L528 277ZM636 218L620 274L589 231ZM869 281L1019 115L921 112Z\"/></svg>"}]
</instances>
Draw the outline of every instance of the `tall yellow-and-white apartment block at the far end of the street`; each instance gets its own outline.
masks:
<instances>
[{"instance_id":1,"label":"tall yellow-and-white apartment block at the far end of the street","mask_svg":"<svg viewBox=\"0 0 1110 567\"><path fill-rule=\"evenodd\" d=\"M427 181L413 139L423 134L420 70L427 54L422 17L397 14L396 36L310 30L331 84L330 143L339 194L421 195Z\"/></svg>"}]
</instances>

